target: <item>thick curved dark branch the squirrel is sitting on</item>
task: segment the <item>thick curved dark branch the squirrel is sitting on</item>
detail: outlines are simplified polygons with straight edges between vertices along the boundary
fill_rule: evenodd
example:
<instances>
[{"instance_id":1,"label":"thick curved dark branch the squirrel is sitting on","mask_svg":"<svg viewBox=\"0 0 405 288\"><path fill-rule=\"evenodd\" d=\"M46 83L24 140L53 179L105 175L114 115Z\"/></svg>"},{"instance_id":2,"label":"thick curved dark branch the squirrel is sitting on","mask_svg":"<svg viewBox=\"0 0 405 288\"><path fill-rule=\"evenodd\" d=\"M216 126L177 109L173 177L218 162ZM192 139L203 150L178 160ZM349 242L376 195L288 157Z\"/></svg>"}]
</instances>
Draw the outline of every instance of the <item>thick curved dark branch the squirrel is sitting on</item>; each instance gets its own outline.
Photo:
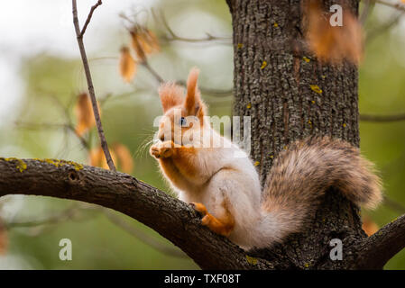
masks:
<instances>
[{"instance_id":1,"label":"thick curved dark branch the squirrel is sitting on","mask_svg":"<svg viewBox=\"0 0 405 288\"><path fill-rule=\"evenodd\" d=\"M204 269L273 269L202 226L196 211L131 175L56 159L0 158L0 197L42 195L95 203L143 222Z\"/></svg>"}]
</instances>

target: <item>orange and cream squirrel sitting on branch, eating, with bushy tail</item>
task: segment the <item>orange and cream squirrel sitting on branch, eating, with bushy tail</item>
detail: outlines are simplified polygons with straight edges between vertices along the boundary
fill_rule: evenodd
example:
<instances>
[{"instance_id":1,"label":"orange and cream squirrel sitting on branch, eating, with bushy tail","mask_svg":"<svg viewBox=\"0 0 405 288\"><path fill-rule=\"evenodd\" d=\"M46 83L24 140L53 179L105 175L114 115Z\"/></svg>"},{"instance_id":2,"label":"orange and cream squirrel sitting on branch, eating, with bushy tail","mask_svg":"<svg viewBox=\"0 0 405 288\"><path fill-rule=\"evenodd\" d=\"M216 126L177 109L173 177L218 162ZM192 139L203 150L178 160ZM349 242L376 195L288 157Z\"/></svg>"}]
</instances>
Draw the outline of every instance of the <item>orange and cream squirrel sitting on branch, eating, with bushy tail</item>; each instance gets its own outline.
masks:
<instances>
[{"instance_id":1,"label":"orange and cream squirrel sitting on branch, eating, with bushy tail","mask_svg":"<svg viewBox=\"0 0 405 288\"><path fill-rule=\"evenodd\" d=\"M150 153L179 199L202 215L202 225L244 249L271 247L305 227L330 186L366 208L382 201L373 164L350 143L327 136L300 139L283 149L262 190L250 157L207 121L198 73L197 68L189 72L186 95L174 83L159 88L164 121ZM176 138L176 130L189 137ZM201 147L216 139L221 147Z\"/></svg>"}]
</instances>

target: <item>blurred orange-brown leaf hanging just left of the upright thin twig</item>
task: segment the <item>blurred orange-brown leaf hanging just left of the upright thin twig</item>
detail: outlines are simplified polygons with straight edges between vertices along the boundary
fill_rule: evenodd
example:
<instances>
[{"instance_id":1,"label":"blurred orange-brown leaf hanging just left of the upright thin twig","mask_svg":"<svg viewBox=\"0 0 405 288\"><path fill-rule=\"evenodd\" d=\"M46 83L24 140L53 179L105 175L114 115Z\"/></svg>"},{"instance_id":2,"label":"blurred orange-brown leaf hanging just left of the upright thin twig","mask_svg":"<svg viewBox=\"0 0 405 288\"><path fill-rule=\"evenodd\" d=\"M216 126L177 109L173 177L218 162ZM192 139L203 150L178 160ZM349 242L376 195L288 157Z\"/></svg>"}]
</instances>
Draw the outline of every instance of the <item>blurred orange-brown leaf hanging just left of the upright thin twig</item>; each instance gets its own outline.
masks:
<instances>
[{"instance_id":1,"label":"blurred orange-brown leaf hanging just left of the upright thin twig","mask_svg":"<svg viewBox=\"0 0 405 288\"><path fill-rule=\"evenodd\" d=\"M98 105L98 111L101 114L100 106ZM75 114L78 120L76 125L76 132L79 136L82 136L87 130L90 130L96 125L94 119L93 107L91 105L90 97L87 93L82 93L78 95L78 101L75 105Z\"/></svg>"}]
</instances>

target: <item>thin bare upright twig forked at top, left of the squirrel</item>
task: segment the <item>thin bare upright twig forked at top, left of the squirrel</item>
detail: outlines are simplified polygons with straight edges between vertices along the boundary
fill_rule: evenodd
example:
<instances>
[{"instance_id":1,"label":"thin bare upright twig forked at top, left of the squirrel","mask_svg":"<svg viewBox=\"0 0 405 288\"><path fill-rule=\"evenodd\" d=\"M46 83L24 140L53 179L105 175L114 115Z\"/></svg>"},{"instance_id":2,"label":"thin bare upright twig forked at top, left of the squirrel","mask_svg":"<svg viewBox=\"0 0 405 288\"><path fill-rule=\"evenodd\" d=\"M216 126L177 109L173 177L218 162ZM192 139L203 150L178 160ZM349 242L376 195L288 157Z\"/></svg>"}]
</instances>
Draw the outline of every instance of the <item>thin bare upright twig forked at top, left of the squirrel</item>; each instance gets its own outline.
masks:
<instances>
[{"instance_id":1,"label":"thin bare upright twig forked at top, left of the squirrel","mask_svg":"<svg viewBox=\"0 0 405 288\"><path fill-rule=\"evenodd\" d=\"M97 8L97 6L99 4L101 4L101 1L98 1L97 4L92 7L90 14L93 14L94 10ZM75 25L76 36L78 39L78 49L80 50L83 67L85 69L88 93L90 94L91 104L93 106L94 117L96 119L98 137L100 138L101 148L103 148L104 154L106 156L106 162L108 164L108 167L110 168L110 170L115 171L115 165L114 165L113 159L111 157L110 150L108 149L108 144L106 142L106 136L104 135L103 126L101 124L100 113L98 112L97 99L96 99L96 94L94 92L93 80L91 79L91 73L90 73L90 67L88 67L86 49L85 49L85 45L83 43L83 34L81 33L80 26L78 24L78 7L76 4L76 0L72 0L72 13L73 13L73 23ZM90 14L87 17L88 22L91 19ZM83 32L84 31L85 30L83 30Z\"/></svg>"}]
</instances>

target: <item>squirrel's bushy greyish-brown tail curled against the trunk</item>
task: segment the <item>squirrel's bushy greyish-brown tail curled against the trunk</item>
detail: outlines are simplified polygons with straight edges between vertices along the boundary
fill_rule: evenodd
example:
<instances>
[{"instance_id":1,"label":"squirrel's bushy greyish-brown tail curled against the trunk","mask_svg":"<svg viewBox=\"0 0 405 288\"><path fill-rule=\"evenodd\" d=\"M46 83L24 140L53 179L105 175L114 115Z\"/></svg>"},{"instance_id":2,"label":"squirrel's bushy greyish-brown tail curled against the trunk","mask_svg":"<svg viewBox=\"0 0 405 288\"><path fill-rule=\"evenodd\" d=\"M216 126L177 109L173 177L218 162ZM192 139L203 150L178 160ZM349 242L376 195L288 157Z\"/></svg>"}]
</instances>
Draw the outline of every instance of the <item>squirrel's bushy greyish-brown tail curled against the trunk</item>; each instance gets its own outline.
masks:
<instances>
[{"instance_id":1,"label":"squirrel's bushy greyish-brown tail curled against the trunk","mask_svg":"<svg viewBox=\"0 0 405 288\"><path fill-rule=\"evenodd\" d=\"M330 186L352 202L374 208L382 201L382 186L373 171L359 149L343 140L318 137L289 145L267 177L255 246L268 246L302 229Z\"/></svg>"}]
</instances>

